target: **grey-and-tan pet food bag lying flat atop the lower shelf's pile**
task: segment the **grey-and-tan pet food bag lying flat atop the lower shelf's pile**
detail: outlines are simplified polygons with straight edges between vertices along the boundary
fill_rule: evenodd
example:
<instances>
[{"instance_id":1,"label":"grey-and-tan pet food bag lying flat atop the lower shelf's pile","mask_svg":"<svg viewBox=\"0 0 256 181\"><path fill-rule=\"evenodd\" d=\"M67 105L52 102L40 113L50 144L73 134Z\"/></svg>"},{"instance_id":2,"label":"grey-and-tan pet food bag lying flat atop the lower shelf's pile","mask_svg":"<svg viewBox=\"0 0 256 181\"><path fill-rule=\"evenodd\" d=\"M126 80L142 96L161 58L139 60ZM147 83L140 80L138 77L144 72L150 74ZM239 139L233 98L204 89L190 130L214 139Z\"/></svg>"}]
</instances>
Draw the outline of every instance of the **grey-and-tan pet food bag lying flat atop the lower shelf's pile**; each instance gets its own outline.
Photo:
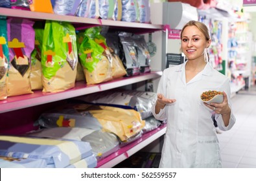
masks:
<instances>
[{"instance_id":1,"label":"grey-and-tan pet food bag lying flat atop the lower shelf's pile","mask_svg":"<svg viewBox=\"0 0 256 181\"><path fill-rule=\"evenodd\" d=\"M38 123L43 127L84 127L116 134L128 140L145 126L139 112L104 105L68 104L41 114Z\"/></svg>"}]
</instances>

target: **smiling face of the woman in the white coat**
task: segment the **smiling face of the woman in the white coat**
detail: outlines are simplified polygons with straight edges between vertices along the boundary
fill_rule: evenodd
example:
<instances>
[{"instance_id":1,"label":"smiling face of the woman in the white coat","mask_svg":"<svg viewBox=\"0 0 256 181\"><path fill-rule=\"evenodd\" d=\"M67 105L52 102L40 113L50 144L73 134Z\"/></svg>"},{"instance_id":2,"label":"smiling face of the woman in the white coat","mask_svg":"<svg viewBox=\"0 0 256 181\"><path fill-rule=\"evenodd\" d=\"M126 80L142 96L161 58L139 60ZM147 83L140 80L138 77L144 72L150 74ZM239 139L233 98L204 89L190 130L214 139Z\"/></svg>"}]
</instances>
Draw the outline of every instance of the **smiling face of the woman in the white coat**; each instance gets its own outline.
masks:
<instances>
[{"instance_id":1,"label":"smiling face of the woman in the white coat","mask_svg":"<svg viewBox=\"0 0 256 181\"><path fill-rule=\"evenodd\" d=\"M204 34L196 26L189 26L183 30L181 50L189 60L204 60L204 50L209 47L210 43L211 40L207 41Z\"/></svg>"}]
</instances>

